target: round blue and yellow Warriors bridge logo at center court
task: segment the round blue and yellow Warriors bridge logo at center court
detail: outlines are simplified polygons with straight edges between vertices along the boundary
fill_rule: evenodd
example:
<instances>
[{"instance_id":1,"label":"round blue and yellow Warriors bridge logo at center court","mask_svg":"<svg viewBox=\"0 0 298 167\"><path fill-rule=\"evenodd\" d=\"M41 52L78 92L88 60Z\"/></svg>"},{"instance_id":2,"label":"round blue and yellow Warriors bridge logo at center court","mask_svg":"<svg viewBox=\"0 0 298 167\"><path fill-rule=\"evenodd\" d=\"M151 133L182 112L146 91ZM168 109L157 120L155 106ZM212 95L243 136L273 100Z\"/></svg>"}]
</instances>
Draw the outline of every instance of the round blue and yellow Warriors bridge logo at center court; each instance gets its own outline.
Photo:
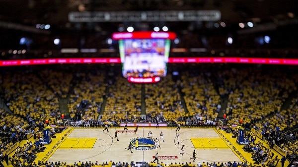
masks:
<instances>
[{"instance_id":1,"label":"round blue and yellow Warriors bridge logo at center court","mask_svg":"<svg viewBox=\"0 0 298 167\"><path fill-rule=\"evenodd\" d=\"M139 137L134 138L131 141L132 149L135 150L153 150L156 149L158 146L155 145L155 141L149 138Z\"/></svg>"}]
</instances>

